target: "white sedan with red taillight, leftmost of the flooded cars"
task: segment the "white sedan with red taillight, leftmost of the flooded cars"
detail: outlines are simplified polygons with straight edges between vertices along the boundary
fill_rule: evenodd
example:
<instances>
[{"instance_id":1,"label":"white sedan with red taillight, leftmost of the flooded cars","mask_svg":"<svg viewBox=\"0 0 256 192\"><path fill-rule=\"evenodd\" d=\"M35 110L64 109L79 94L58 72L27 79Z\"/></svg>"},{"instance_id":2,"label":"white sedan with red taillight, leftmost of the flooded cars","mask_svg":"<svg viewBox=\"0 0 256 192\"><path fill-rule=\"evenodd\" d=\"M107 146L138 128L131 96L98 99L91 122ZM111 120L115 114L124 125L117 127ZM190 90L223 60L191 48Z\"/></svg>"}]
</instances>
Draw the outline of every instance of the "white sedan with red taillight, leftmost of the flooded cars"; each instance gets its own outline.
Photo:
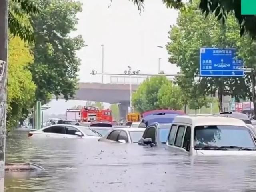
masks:
<instances>
[{"instance_id":1,"label":"white sedan with red taillight, leftmost of the flooded cars","mask_svg":"<svg viewBox=\"0 0 256 192\"><path fill-rule=\"evenodd\" d=\"M98 132L82 126L56 124L39 130L28 132L28 138L93 138L98 139L102 135Z\"/></svg>"}]
</instances>

